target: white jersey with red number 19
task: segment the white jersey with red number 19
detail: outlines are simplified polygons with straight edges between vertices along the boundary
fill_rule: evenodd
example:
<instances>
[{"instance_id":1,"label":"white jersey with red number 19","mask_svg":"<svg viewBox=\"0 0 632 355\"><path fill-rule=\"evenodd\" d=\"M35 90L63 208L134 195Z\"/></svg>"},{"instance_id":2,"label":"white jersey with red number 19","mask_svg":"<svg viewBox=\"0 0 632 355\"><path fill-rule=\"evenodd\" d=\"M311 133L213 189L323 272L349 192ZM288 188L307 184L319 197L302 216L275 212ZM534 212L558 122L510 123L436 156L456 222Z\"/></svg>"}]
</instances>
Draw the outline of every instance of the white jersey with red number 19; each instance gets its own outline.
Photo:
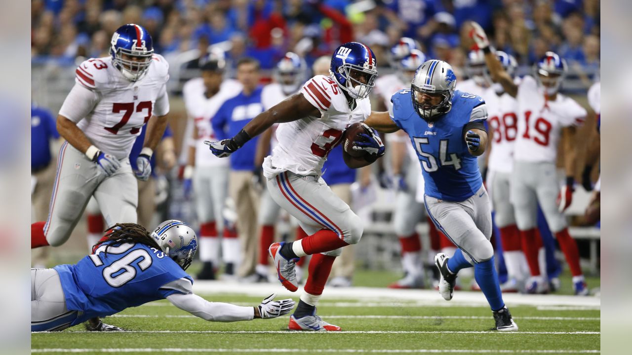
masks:
<instances>
[{"instance_id":1,"label":"white jersey with red number 19","mask_svg":"<svg viewBox=\"0 0 632 355\"><path fill-rule=\"evenodd\" d=\"M562 128L581 126L586 110L561 93L557 93L555 101L545 100L544 91L532 76L522 79L516 99L520 112L515 159L554 163Z\"/></svg>"}]
</instances>

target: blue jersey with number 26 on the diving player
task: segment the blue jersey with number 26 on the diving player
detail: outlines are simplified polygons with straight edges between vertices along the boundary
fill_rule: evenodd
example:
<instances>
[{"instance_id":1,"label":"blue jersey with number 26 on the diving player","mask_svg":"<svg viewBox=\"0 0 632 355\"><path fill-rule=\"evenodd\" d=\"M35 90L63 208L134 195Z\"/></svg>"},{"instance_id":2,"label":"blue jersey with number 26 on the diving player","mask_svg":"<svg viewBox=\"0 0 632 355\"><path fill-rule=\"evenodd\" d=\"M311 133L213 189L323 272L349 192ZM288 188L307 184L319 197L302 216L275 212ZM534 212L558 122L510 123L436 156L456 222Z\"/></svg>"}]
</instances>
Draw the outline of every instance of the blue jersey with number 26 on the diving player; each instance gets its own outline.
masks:
<instances>
[{"instance_id":1,"label":"blue jersey with number 26 on the diving player","mask_svg":"<svg viewBox=\"0 0 632 355\"><path fill-rule=\"evenodd\" d=\"M111 242L110 242L111 243ZM94 254L75 265L54 267L70 311L81 311L72 325L95 316L108 316L125 308L167 298L169 282L193 279L161 250L141 243L102 244Z\"/></svg>"}]
</instances>

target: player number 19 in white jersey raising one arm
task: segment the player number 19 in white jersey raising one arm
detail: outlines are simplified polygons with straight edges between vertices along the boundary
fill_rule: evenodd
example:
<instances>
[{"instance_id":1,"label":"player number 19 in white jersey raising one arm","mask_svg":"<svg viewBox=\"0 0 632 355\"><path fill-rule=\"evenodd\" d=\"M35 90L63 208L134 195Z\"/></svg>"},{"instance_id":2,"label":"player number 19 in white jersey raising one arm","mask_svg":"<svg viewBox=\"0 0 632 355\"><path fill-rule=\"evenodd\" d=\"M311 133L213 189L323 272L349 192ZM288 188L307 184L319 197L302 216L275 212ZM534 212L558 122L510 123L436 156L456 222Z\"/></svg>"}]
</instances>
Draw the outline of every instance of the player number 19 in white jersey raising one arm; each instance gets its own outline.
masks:
<instances>
[{"instance_id":1,"label":"player number 19 in white jersey raising one arm","mask_svg":"<svg viewBox=\"0 0 632 355\"><path fill-rule=\"evenodd\" d=\"M511 176L511 202L516 212L520 238L529 263L532 279L527 291L542 293L549 288L540 274L538 250L542 239L537 233L537 205L555 235L573 275L575 294L588 294L580 267L577 244L568 232L564 210L571 205L576 165L576 128L585 121L586 110L575 100L559 93L566 75L566 61L554 52L546 52L535 64L535 78L526 75L520 85L502 68L490 50L485 31L471 23L470 37L485 52L485 62L492 80L518 100L518 135L514 148L514 169ZM557 145L562 139L566 184L559 188L557 180ZM556 200L557 198L557 200Z\"/></svg>"}]
</instances>

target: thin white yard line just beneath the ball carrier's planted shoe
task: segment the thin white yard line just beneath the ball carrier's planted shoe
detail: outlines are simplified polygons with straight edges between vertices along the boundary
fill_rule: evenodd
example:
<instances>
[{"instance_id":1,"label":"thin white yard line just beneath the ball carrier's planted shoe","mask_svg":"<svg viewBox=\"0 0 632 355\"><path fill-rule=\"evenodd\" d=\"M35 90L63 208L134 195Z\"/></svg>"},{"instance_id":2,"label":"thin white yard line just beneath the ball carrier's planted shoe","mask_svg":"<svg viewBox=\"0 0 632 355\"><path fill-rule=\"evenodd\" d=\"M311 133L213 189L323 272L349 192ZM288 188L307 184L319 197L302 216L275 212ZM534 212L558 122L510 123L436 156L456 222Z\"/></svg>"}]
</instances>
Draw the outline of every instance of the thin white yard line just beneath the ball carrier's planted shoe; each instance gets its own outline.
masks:
<instances>
[{"instance_id":1,"label":"thin white yard line just beneath the ball carrier's planted shoe","mask_svg":"<svg viewBox=\"0 0 632 355\"><path fill-rule=\"evenodd\" d=\"M95 334L95 332L88 332L87 330L81 330L78 332L65 332L62 334L78 334L78 333L90 333ZM152 334L152 333L167 333L167 334L178 334L178 333L190 333L190 334L303 334L303 335L311 335L311 334L499 334L499 335L524 335L524 334L601 334L601 332L496 332L495 330L490 330L488 332L477 332L477 331L451 331L451 330L349 330L342 332L292 332L290 330L127 330L123 333L118 332L102 332L100 334L131 334L131 333L143 333L143 334ZM59 332L32 332L31 334L56 334L59 335Z\"/></svg>"}]
</instances>

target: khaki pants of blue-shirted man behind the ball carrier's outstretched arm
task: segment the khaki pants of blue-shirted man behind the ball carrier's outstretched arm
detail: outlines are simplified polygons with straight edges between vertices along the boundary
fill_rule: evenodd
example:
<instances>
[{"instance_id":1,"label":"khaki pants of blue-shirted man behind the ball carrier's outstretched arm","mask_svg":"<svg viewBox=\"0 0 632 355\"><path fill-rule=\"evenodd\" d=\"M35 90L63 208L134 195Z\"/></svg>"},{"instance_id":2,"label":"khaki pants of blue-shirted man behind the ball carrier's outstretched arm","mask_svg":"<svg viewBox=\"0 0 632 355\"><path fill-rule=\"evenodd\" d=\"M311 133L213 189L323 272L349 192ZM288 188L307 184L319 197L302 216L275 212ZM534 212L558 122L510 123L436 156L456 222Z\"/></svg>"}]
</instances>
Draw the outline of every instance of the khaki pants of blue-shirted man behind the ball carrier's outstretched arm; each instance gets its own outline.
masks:
<instances>
[{"instance_id":1,"label":"khaki pants of blue-shirted man behind the ball carrier's outstretched arm","mask_svg":"<svg viewBox=\"0 0 632 355\"><path fill-rule=\"evenodd\" d=\"M239 277L255 272L257 265L257 214L259 193L252 184L251 171L231 171L228 193L233 199L239 218L236 221L237 233L241 244L241 263Z\"/></svg>"}]
</instances>

